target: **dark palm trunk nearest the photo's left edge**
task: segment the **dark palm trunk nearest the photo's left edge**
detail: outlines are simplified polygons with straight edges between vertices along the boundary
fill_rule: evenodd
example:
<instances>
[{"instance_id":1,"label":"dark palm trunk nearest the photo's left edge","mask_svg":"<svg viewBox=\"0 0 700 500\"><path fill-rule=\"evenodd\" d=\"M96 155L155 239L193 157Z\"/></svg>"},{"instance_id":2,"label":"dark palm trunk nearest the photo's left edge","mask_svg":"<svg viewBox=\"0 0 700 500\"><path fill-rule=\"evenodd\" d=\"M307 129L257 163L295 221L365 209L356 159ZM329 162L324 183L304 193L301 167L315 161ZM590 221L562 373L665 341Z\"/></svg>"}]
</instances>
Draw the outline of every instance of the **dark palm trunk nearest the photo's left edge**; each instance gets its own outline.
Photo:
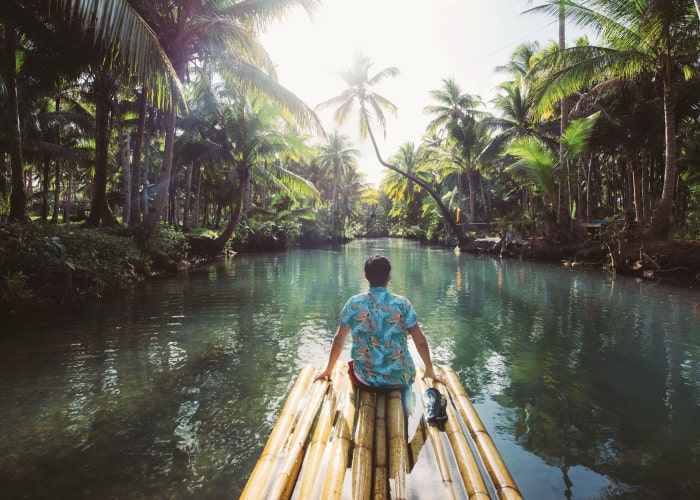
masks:
<instances>
[{"instance_id":1,"label":"dark palm trunk nearest the photo's left edge","mask_svg":"<svg viewBox=\"0 0 700 500\"><path fill-rule=\"evenodd\" d=\"M7 90L7 139L10 146L10 171L12 172L12 193L10 194L9 220L29 222L27 198L24 192L24 160L22 159L22 135L19 123L17 102L17 67L15 49L17 34L12 16L5 19L5 88Z\"/></svg>"}]
</instances>

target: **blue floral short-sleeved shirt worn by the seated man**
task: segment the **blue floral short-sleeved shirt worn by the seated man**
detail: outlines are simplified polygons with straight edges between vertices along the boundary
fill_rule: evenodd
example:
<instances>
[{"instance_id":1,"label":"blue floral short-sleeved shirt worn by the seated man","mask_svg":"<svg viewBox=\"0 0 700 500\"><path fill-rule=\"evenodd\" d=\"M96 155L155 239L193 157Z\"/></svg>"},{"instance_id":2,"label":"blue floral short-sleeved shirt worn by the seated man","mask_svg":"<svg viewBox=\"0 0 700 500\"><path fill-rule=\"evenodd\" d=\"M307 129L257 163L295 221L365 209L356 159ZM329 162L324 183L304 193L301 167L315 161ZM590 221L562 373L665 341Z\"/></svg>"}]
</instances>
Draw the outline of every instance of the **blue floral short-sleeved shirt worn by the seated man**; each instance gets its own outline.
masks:
<instances>
[{"instance_id":1,"label":"blue floral short-sleeved shirt worn by the seated man","mask_svg":"<svg viewBox=\"0 0 700 500\"><path fill-rule=\"evenodd\" d=\"M355 373L376 387L409 385L416 367L408 352L408 332L416 324L409 300L384 287L351 297L340 323L350 327Z\"/></svg>"}]
</instances>

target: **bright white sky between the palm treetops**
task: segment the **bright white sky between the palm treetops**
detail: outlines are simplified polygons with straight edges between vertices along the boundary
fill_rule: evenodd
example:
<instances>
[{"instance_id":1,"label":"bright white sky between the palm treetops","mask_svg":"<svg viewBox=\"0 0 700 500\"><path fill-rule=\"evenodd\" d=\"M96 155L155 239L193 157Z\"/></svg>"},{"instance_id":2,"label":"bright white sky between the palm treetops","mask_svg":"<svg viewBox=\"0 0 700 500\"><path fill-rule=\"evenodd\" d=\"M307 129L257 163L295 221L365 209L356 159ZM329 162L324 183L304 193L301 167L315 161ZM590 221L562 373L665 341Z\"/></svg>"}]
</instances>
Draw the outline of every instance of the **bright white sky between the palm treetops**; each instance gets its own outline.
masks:
<instances>
[{"instance_id":1,"label":"bright white sky between the palm treetops","mask_svg":"<svg viewBox=\"0 0 700 500\"><path fill-rule=\"evenodd\" d=\"M557 20L522 14L535 0L322 0L313 18L303 9L270 27L262 44L277 65L279 81L312 108L345 90L339 73L360 51L374 61L370 75L396 66L401 74L374 90L394 103L397 117L387 116L384 140L375 136L384 159L401 144L420 144L430 117L425 106L435 104L429 92L454 78L464 92L484 101L506 79L494 71L510 59L521 43L547 44L558 38ZM567 45L580 31L567 29ZM332 111L319 114L327 133L338 128ZM360 141L357 119L340 131L360 150L359 170L378 184L386 171L369 139Z\"/></svg>"}]
</instances>

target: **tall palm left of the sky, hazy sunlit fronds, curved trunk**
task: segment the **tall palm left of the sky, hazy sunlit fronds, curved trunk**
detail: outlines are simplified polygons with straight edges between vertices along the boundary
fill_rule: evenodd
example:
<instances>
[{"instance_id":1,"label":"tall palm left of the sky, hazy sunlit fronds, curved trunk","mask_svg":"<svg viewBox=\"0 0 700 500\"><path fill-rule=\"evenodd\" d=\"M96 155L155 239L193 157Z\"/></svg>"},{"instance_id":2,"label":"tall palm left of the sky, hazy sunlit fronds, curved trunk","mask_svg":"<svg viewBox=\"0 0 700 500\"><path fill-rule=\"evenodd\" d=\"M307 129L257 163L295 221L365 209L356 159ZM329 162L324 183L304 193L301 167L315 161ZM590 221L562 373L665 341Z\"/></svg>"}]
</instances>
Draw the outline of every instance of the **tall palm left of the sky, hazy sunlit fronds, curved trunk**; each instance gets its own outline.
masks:
<instances>
[{"instance_id":1,"label":"tall palm left of the sky, hazy sunlit fronds, curved trunk","mask_svg":"<svg viewBox=\"0 0 700 500\"><path fill-rule=\"evenodd\" d=\"M213 70L219 72L230 88L264 94L300 123L320 130L313 111L277 83L274 65L256 36L258 29L278 19L293 6L301 5L311 11L317 3L318 0L156 0L139 2L139 9L159 35L181 79L189 75L192 65L212 63L215 65ZM153 207L143 223L147 234L155 230L165 204L172 170L175 125L175 110L171 107L165 112L163 170Z\"/></svg>"}]
</instances>

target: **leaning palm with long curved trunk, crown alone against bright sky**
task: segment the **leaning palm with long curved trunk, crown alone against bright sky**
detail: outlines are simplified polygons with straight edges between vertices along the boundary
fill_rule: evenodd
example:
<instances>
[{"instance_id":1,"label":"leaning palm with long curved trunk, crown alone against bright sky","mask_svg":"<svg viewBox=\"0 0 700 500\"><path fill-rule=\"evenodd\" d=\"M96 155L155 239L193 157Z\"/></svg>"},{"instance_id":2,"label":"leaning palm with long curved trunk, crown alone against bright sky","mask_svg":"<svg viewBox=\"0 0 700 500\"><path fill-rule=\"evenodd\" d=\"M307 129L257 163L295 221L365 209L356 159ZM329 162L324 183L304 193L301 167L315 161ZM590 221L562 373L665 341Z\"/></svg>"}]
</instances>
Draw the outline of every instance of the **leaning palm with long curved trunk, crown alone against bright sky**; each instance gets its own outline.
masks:
<instances>
[{"instance_id":1,"label":"leaning palm with long curved trunk, crown alone against bright sky","mask_svg":"<svg viewBox=\"0 0 700 500\"><path fill-rule=\"evenodd\" d=\"M386 135L386 117L384 112L386 111L388 113L396 114L396 106L385 97L373 91L372 88L384 81L386 78L397 76L399 74L399 70L398 68L391 66L370 76L369 73L373 64L374 63L370 58L357 53L353 59L351 68L343 71L340 75L348 85L348 88L339 96L322 102L317 106L317 108L335 108L335 120L337 123L342 124L347 121L350 114L354 111L355 106L358 106L360 137L362 139L366 139L367 135L369 135L379 163L381 163L384 167L403 175L425 189L425 191L433 197L435 202L440 207L443 216L457 236L459 243L465 243L459 226L454 221L454 218L440 199L438 193L436 193L431 186L418 177L404 172L395 165L387 163L382 158L382 155L379 152L379 146L377 145L377 141L374 137L374 132L372 131L371 123L376 120Z\"/></svg>"}]
</instances>

